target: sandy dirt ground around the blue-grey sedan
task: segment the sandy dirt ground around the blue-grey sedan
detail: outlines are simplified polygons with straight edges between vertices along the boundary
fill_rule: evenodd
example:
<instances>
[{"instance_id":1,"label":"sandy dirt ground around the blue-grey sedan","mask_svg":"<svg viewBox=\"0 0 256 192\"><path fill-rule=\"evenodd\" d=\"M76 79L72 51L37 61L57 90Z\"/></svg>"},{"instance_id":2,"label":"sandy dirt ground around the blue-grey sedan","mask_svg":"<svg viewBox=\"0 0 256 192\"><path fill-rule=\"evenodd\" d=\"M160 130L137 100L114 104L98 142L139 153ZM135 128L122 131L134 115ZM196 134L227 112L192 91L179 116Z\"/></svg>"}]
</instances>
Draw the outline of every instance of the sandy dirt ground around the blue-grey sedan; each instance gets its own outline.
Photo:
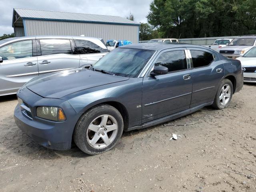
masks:
<instances>
[{"instance_id":1,"label":"sandy dirt ground around the blue-grey sedan","mask_svg":"<svg viewBox=\"0 0 256 192\"><path fill-rule=\"evenodd\" d=\"M116 148L88 156L33 142L14 123L16 96L1 97L0 191L255 192L255 100L256 85L245 84L224 110L168 122L198 124L125 132Z\"/></svg>"}]
</instances>

